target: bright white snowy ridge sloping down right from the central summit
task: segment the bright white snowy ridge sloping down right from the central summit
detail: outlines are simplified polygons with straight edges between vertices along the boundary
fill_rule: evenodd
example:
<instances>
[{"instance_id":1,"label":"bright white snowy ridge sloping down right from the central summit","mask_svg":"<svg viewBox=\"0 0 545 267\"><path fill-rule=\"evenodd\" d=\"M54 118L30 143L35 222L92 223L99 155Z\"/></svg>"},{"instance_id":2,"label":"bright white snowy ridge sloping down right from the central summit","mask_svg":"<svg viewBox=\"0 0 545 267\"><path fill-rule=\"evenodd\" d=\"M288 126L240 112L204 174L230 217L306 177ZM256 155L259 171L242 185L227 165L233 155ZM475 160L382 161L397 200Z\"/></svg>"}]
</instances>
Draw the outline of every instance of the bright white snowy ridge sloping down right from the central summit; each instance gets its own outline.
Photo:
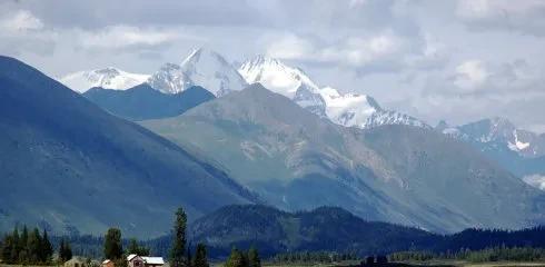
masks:
<instances>
[{"instance_id":1,"label":"bright white snowy ridge sloping down right from the central summit","mask_svg":"<svg viewBox=\"0 0 545 267\"><path fill-rule=\"evenodd\" d=\"M244 62L238 71L248 83L259 82L337 125L358 128L412 125L429 128L410 116L382 109L369 96L343 95L331 87L320 88L303 70L286 66L278 59L258 56Z\"/></svg>"}]
</instances>

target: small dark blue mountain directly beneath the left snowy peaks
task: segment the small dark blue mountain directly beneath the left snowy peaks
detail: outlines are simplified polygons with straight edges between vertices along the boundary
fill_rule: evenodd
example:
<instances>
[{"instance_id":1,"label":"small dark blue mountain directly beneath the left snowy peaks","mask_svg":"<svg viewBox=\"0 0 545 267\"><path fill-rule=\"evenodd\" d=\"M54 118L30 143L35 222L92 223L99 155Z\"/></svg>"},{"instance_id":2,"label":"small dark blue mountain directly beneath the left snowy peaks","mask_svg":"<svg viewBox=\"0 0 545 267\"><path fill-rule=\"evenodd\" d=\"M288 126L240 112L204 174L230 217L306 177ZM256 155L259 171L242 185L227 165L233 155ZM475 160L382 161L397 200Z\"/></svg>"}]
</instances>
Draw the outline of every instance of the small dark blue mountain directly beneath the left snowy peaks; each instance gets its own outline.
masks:
<instances>
[{"instance_id":1,"label":"small dark blue mountain directly beneath the left snowy peaks","mask_svg":"<svg viewBox=\"0 0 545 267\"><path fill-rule=\"evenodd\" d=\"M91 88L83 96L109 112L129 120L175 117L214 99L202 87L190 87L178 93L164 93L142 83L119 91Z\"/></svg>"}]
</instances>

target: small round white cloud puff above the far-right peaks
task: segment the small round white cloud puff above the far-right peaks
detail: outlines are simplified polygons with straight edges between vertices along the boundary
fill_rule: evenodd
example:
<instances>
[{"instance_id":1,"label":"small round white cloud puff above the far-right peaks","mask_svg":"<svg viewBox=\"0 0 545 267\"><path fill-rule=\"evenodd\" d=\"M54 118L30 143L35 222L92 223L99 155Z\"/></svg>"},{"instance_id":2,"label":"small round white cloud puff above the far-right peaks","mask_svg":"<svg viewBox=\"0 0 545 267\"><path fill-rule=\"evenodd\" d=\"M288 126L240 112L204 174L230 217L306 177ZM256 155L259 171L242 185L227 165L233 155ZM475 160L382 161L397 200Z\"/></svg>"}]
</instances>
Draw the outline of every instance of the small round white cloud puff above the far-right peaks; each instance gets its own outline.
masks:
<instances>
[{"instance_id":1,"label":"small round white cloud puff above the far-right peaks","mask_svg":"<svg viewBox=\"0 0 545 267\"><path fill-rule=\"evenodd\" d=\"M462 89L475 89L488 78L488 71L480 60L468 60L456 67L454 83Z\"/></svg>"}]
</instances>

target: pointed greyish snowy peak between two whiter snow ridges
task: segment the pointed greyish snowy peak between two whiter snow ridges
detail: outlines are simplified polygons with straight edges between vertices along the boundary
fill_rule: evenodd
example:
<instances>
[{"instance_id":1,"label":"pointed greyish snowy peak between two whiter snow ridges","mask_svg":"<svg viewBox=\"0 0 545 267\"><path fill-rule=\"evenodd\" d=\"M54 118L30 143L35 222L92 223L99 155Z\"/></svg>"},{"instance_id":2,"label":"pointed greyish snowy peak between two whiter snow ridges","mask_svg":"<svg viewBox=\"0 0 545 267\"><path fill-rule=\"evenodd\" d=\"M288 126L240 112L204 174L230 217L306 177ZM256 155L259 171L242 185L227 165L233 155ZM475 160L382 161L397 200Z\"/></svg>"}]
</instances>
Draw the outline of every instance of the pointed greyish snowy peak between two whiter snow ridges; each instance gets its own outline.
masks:
<instances>
[{"instance_id":1,"label":"pointed greyish snowy peak between two whiter snow ridges","mask_svg":"<svg viewBox=\"0 0 545 267\"><path fill-rule=\"evenodd\" d=\"M241 90L247 86L246 80L224 57L204 48L194 50L179 66L162 66L149 78L148 83L166 93L201 86L216 97Z\"/></svg>"}]
</instances>

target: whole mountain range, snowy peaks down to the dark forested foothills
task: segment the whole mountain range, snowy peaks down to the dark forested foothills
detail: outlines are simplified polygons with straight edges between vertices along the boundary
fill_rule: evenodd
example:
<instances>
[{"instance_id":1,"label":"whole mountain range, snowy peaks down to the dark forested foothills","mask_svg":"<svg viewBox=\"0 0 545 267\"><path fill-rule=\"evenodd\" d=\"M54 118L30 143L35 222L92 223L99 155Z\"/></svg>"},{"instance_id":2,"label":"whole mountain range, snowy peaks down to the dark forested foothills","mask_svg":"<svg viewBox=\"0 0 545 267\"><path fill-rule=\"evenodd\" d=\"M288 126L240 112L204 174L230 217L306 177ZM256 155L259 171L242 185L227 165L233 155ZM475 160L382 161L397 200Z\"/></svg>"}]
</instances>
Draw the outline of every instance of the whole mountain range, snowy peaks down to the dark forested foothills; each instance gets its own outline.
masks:
<instances>
[{"instance_id":1,"label":"whole mountain range, snowy peaks down to the dark forested foothills","mask_svg":"<svg viewBox=\"0 0 545 267\"><path fill-rule=\"evenodd\" d=\"M14 189L0 191L0 229L27 220L101 233L113 224L157 236L177 206L197 218L248 202L338 206L438 233L545 221L544 192L522 180L545 174L543 136L501 120L433 129L278 60L237 70L207 49L150 76L68 76L101 86L77 88L82 96L1 60L10 160L0 175ZM138 220L140 211L150 218Z\"/></svg>"}]
</instances>

